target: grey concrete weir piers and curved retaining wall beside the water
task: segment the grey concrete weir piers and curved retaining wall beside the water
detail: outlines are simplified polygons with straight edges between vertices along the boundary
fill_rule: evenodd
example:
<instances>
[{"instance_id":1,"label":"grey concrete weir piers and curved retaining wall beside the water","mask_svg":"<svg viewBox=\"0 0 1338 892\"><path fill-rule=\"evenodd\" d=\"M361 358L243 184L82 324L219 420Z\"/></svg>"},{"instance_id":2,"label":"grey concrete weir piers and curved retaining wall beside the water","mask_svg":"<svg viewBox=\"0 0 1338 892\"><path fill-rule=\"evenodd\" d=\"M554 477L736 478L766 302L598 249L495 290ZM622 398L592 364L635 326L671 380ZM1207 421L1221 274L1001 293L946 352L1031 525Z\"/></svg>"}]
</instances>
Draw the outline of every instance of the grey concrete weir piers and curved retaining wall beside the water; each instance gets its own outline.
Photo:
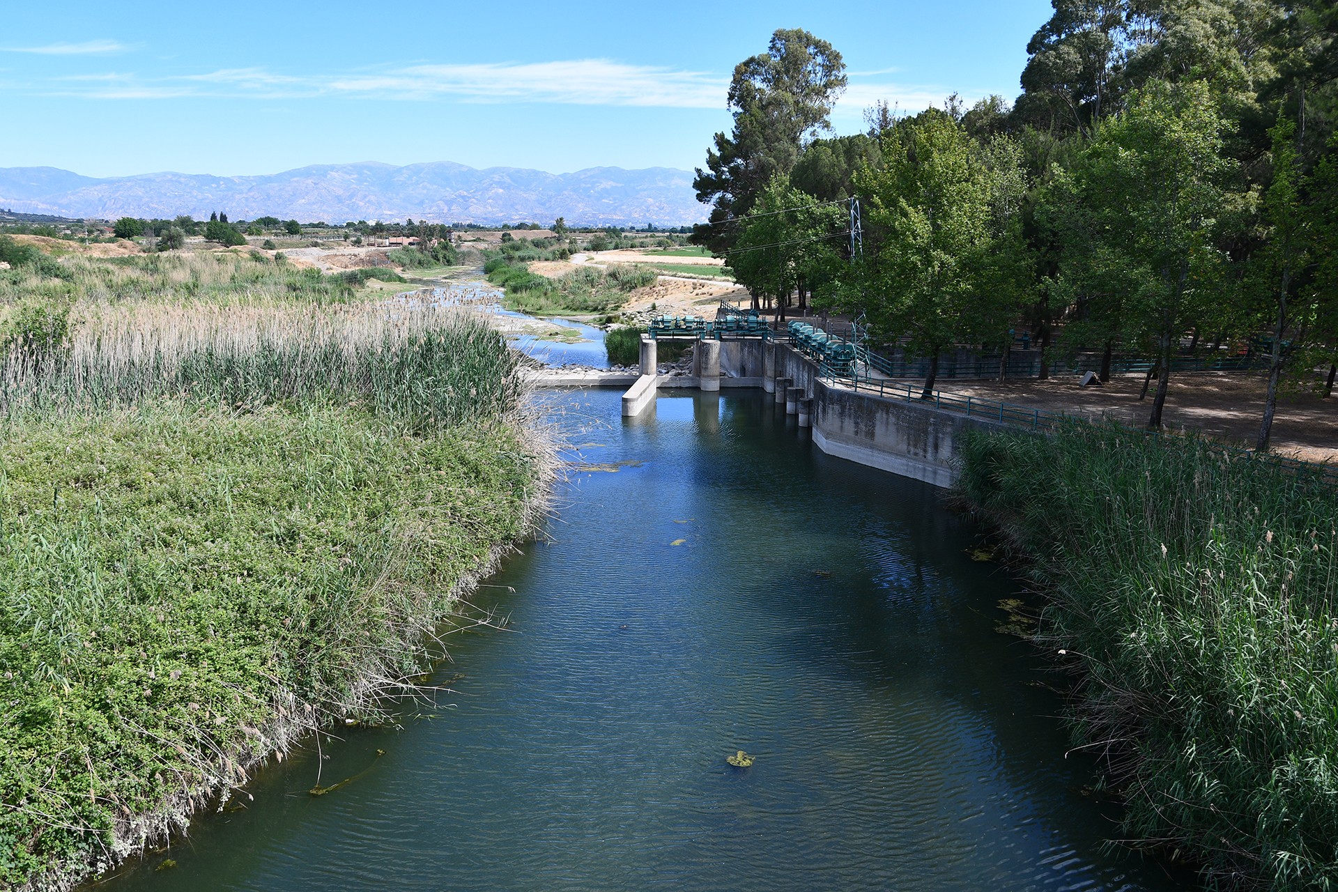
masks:
<instances>
[{"instance_id":1,"label":"grey concrete weir piers and curved retaining wall beside the water","mask_svg":"<svg viewBox=\"0 0 1338 892\"><path fill-rule=\"evenodd\" d=\"M624 416L644 412L660 386L760 386L775 395L777 407L797 416L800 428L811 428L823 452L937 487L951 487L957 479L955 444L963 432L1002 427L933 403L879 396L824 380L812 360L772 340L700 340L692 378L657 376L654 360L656 342L644 334L641 377L622 397Z\"/></svg>"}]
</instances>

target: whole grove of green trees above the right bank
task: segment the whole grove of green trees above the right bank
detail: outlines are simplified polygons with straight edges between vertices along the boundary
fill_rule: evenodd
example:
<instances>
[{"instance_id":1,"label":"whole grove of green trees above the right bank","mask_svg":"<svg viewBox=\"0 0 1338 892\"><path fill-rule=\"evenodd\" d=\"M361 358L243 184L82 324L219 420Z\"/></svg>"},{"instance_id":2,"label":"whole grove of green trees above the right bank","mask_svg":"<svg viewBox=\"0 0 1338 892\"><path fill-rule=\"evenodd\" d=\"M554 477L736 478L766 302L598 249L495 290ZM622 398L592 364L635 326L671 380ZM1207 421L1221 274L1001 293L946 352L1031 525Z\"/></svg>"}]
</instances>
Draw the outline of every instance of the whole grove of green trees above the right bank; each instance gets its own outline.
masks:
<instances>
[{"instance_id":1,"label":"whole grove of green trees above the right bank","mask_svg":"<svg viewBox=\"0 0 1338 892\"><path fill-rule=\"evenodd\" d=\"M926 392L939 356L1006 358L1022 333L1041 377L1147 360L1153 428L1177 362L1255 369L1267 448L1279 389L1338 374L1338 13L1053 5L1016 103L876 104L840 138L840 53L777 31L736 68L693 238L755 306L863 314L927 361Z\"/></svg>"}]
</instances>

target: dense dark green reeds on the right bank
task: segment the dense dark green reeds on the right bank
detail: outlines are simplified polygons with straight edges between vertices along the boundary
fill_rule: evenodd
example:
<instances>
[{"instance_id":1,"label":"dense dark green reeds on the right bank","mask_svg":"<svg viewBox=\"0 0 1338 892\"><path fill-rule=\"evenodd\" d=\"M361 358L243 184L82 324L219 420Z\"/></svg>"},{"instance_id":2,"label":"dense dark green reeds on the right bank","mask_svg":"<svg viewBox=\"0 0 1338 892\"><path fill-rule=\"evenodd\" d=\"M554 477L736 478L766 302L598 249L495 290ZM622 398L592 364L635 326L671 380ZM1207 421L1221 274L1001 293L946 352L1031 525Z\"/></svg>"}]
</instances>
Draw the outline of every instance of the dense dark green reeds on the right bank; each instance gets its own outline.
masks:
<instances>
[{"instance_id":1,"label":"dense dark green reeds on the right bank","mask_svg":"<svg viewBox=\"0 0 1338 892\"><path fill-rule=\"evenodd\" d=\"M961 488L1030 558L1123 834L1214 884L1338 885L1338 487L1111 427L971 435Z\"/></svg>"}]
</instances>

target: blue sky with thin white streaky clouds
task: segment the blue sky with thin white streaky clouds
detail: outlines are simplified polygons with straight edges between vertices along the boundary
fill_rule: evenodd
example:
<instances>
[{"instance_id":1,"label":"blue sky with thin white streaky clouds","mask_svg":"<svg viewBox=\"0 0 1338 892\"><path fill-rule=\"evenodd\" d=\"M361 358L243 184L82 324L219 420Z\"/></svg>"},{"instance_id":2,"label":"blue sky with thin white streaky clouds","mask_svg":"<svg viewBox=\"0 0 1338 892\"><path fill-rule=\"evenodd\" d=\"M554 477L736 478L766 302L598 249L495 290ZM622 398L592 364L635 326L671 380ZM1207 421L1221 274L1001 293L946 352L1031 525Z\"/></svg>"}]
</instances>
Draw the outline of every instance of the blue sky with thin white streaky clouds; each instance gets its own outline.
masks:
<instances>
[{"instance_id":1,"label":"blue sky with thin white streaky clouds","mask_svg":"<svg viewBox=\"0 0 1338 892\"><path fill-rule=\"evenodd\" d=\"M850 70L836 132L1013 99L1048 0L25 3L0 28L0 167L92 177L316 163L680 167L729 128L735 64L776 28Z\"/></svg>"}]
</instances>

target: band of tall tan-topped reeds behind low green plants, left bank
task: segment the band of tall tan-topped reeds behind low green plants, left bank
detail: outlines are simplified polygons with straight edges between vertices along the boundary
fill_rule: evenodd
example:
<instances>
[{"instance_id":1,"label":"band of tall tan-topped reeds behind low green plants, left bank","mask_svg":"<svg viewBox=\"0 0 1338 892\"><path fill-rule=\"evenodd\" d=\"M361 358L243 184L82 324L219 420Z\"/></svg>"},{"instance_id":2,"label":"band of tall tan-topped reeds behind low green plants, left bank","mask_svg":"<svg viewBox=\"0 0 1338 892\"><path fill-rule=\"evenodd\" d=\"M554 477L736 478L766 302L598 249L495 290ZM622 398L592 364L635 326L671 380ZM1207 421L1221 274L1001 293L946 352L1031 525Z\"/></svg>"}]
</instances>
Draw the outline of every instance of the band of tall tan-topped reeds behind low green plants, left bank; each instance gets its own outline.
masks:
<instances>
[{"instance_id":1,"label":"band of tall tan-topped reeds behind low green plants, left bank","mask_svg":"<svg viewBox=\"0 0 1338 892\"><path fill-rule=\"evenodd\" d=\"M56 357L11 352L0 415L183 397L234 409L357 401L421 431L514 409L518 357L482 318L432 306L86 309Z\"/></svg>"}]
</instances>

